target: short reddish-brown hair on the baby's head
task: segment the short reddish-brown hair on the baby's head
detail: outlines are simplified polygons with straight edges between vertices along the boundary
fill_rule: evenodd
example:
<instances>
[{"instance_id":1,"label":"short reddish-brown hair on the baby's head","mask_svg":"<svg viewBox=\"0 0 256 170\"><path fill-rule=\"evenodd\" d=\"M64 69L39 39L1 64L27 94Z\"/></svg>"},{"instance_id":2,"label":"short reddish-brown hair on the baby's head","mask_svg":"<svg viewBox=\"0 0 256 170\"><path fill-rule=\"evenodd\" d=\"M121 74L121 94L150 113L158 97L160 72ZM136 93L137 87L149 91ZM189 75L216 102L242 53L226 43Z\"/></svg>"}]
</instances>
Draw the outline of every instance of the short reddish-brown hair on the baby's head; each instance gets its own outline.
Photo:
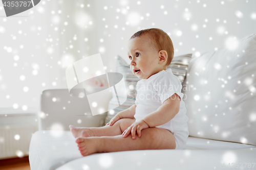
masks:
<instances>
[{"instance_id":1,"label":"short reddish-brown hair on the baby's head","mask_svg":"<svg viewBox=\"0 0 256 170\"><path fill-rule=\"evenodd\" d=\"M161 50L165 50L167 52L167 61L164 66L168 66L174 58L174 45L168 34L166 34L163 30L157 28L145 29L135 33L130 38L130 40L136 37L140 37L142 35L148 35L148 37L151 39L152 45L156 48L158 52Z\"/></svg>"}]
</instances>

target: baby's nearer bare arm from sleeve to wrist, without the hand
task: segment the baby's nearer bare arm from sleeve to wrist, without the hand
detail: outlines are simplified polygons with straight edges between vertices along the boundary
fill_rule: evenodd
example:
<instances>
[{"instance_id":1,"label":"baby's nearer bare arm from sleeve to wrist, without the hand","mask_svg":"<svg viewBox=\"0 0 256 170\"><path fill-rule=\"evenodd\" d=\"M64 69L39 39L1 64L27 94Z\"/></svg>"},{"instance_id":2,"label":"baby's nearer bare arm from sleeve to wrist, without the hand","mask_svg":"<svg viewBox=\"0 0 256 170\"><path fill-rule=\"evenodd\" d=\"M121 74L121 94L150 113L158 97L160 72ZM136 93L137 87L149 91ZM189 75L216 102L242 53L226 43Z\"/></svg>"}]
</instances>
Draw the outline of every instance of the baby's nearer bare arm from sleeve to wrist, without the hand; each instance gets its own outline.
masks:
<instances>
[{"instance_id":1,"label":"baby's nearer bare arm from sleeve to wrist, without the hand","mask_svg":"<svg viewBox=\"0 0 256 170\"><path fill-rule=\"evenodd\" d=\"M151 128L163 125L172 120L180 109L180 96L174 93L154 112L143 117L143 121Z\"/></svg>"}]
</instances>

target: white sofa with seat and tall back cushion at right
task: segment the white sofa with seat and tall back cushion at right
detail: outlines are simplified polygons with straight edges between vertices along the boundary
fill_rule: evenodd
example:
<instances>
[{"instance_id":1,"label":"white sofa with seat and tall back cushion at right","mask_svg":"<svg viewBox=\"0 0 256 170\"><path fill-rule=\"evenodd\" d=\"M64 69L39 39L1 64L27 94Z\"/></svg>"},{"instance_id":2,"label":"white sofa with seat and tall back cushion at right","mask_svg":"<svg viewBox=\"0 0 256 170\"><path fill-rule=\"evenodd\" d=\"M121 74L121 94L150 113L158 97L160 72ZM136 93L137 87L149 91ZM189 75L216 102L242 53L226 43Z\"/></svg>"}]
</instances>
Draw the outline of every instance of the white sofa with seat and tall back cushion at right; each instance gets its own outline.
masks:
<instances>
[{"instance_id":1,"label":"white sofa with seat and tall back cushion at right","mask_svg":"<svg viewBox=\"0 0 256 170\"><path fill-rule=\"evenodd\" d=\"M233 44L229 49L193 55L189 63L183 82L189 118L184 150L82 157L70 131L45 128L32 136L31 169L256 169L256 34ZM47 125L47 120L42 124Z\"/></svg>"}]
</instances>

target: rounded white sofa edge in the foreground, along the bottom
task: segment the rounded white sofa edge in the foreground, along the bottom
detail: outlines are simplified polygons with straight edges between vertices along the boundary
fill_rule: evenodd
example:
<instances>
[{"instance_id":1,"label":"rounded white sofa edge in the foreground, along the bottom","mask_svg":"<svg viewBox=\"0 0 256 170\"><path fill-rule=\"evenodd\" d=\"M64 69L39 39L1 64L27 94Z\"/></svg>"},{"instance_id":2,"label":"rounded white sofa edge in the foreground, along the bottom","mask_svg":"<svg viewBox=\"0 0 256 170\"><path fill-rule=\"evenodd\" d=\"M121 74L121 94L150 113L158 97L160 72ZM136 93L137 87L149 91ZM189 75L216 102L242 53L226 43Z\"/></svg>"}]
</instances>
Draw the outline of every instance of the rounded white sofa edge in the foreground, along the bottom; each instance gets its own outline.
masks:
<instances>
[{"instance_id":1,"label":"rounded white sofa edge in the foreground, along the bottom","mask_svg":"<svg viewBox=\"0 0 256 170\"><path fill-rule=\"evenodd\" d=\"M242 150L142 150L103 153L82 157L56 170L133 169L206 170L254 169L255 149ZM247 163L252 162L252 163ZM33 169L32 169L33 170Z\"/></svg>"}]
</instances>

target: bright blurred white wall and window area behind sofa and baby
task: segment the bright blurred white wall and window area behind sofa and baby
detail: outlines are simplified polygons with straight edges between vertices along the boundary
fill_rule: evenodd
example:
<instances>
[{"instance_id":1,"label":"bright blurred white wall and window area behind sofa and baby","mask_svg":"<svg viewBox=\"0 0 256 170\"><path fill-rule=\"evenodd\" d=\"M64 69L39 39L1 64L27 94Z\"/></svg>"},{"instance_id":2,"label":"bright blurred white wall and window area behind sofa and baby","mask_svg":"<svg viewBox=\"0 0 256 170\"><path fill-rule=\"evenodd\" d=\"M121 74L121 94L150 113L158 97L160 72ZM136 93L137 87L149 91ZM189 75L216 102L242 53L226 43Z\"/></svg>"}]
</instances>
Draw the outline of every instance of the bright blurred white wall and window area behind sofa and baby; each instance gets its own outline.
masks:
<instances>
[{"instance_id":1,"label":"bright blurred white wall and window area behind sofa and baby","mask_svg":"<svg viewBox=\"0 0 256 170\"><path fill-rule=\"evenodd\" d=\"M44 0L6 17L0 3L0 153L6 136L17 143L0 159L28 155L40 95L66 89L66 68L73 62L100 53L106 72L115 71L117 55L129 63L130 37L147 28L165 31L175 56L232 48L234 39L255 33L255 7L253 0ZM17 124L27 129L5 134Z\"/></svg>"}]
</instances>

